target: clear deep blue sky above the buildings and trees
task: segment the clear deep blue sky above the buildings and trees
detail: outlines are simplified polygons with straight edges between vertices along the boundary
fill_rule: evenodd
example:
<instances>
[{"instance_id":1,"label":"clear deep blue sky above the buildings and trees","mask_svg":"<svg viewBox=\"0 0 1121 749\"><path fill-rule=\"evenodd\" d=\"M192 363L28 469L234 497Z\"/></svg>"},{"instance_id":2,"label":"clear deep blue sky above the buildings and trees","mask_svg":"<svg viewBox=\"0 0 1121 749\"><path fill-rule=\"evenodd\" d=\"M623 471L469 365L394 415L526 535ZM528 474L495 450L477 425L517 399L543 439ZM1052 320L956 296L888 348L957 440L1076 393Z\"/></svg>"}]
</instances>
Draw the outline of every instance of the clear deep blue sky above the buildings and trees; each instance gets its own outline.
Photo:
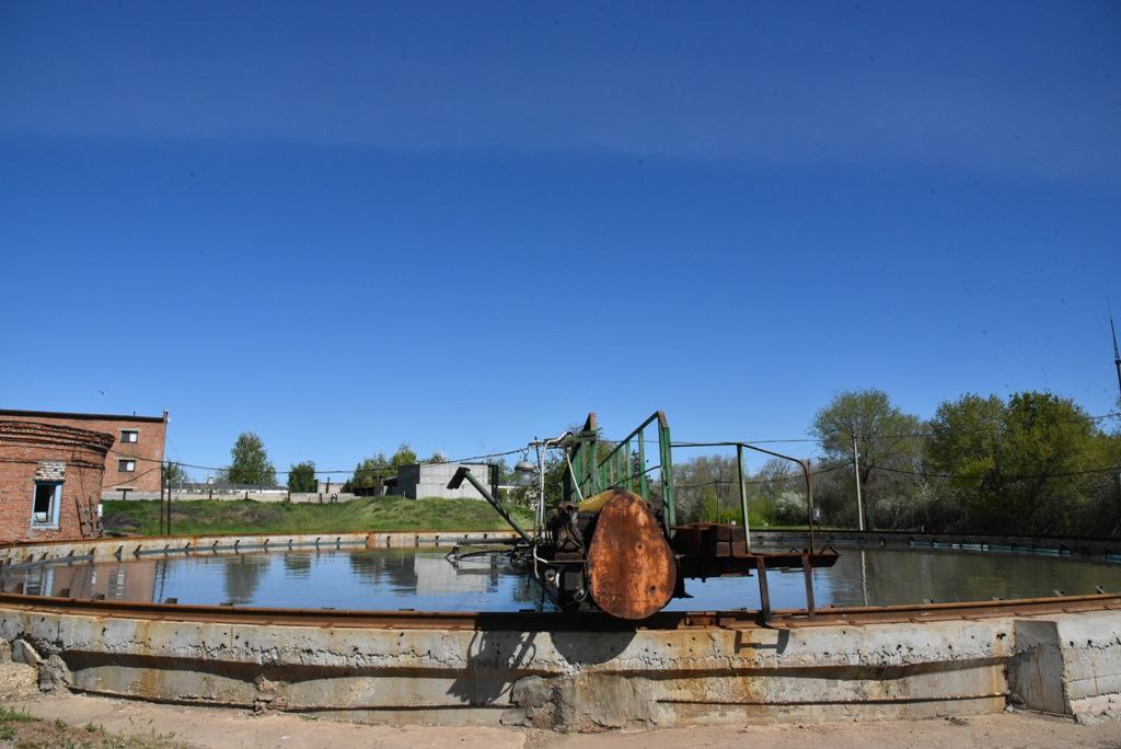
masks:
<instances>
[{"instance_id":1,"label":"clear deep blue sky above the buildings and trees","mask_svg":"<svg viewBox=\"0 0 1121 749\"><path fill-rule=\"evenodd\" d=\"M0 4L3 406L281 469L1115 407L1121 4Z\"/></svg>"}]
</instances>

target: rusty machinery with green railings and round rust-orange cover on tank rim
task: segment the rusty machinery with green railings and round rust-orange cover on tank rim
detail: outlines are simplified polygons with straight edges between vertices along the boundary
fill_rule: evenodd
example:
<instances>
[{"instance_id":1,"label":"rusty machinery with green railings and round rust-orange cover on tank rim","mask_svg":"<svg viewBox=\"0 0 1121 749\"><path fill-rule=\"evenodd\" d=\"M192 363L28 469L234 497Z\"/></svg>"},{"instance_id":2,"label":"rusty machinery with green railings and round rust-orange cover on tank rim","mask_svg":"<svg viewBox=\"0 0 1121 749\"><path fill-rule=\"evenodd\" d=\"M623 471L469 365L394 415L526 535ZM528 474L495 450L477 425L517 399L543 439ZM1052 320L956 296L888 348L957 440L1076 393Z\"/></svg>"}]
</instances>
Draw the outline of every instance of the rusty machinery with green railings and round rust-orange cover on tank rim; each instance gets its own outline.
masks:
<instances>
[{"instance_id":1,"label":"rusty machinery with green railings and round rust-orange cover on tank rim","mask_svg":"<svg viewBox=\"0 0 1121 749\"><path fill-rule=\"evenodd\" d=\"M652 431L657 432L657 438L648 440L647 433ZM648 443L658 447L654 464L647 460ZM832 566L837 553L832 547L814 549L813 492L807 465L747 443L719 444L736 449L741 524L676 524L674 445L661 412L618 442L604 441L595 415L590 414L580 431L530 443L529 447L537 452L537 463L522 461L518 471L524 475L536 474L537 479L532 531L524 529L466 466L458 469L448 488L469 481L510 524L519 536L511 556L562 610L600 610L619 619L642 620L660 611L673 598L688 598L686 579L754 574L759 580L761 616L766 620L770 617L767 571L800 568L805 574L807 616L813 617L812 571ZM549 450L563 454L564 469L559 498L547 505L544 454ZM809 520L807 548L752 549L743 450L786 457L803 466Z\"/></svg>"}]
</instances>

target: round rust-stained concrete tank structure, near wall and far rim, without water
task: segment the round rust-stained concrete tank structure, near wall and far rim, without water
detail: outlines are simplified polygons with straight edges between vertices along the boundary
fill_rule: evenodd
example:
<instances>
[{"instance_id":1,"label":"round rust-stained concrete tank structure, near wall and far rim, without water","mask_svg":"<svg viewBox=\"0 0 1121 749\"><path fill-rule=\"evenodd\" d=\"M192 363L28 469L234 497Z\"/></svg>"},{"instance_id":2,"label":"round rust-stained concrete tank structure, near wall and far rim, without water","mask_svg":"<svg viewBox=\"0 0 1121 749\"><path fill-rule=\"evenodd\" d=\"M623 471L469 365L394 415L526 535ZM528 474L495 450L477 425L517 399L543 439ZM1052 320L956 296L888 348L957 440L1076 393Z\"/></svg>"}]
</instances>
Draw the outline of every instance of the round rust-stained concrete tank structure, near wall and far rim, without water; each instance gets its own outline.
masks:
<instances>
[{"instance_id":1,"label":"round rust-stained concrete tank structure, near wall and far rim, without water","mask_svg":"<svg viewBox=\"0 0 1121 749\"><path fill-rule=\"evenodd\" d=\"M300 547L421 547L503 534L105 538L0 548L4 570ZM766 543L760 535L759 543ZM778 544L804 543L772 535ZM1111 555L1109 539L834 534L837 546ZM1065 549L1065 552L1063 551ZM844 553L842 551L842 553ZM776 611L418 612L0 593L0 636L45 688L374 720L557 730L965 715L1009 704L1121 714L1121 597Z\"/></svg>"}]
</instances>

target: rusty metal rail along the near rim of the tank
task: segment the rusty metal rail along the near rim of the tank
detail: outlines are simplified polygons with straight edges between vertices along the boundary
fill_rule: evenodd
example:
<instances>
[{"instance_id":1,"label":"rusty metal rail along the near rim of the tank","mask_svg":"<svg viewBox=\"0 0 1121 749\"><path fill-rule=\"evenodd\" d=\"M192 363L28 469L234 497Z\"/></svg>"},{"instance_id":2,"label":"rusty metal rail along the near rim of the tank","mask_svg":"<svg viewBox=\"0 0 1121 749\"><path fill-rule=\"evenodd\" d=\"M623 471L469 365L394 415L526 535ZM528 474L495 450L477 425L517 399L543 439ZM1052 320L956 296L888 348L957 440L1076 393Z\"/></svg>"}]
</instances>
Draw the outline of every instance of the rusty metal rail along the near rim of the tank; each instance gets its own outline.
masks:
<instances>
[{"instance_id":1,"label":"rusty metal rail along the near rim of the tank","mask_svg":"<svg viewBox=\"0 0 1121 749\"><path fill-rule=\"evenodd\" d=\"M444 629L512 631L627 631L636 629L785 629L830 625L879 625L892 622L944 621L991 617L1031 617L1077 611L1121 610L1121 593L1065 595L1010 601L924 603L917 605L846 607L770 612L765 622L760 611L660 611L640 622L627 622L603 613L539 611L360 611L334 609L278 609L259 607L137 603L126 601L68 599L21 593L0 594L0 610L13 613L65 613L112 619L207 621L253 626L302 626L325 628Z\"/></svg>"}]
</instances>

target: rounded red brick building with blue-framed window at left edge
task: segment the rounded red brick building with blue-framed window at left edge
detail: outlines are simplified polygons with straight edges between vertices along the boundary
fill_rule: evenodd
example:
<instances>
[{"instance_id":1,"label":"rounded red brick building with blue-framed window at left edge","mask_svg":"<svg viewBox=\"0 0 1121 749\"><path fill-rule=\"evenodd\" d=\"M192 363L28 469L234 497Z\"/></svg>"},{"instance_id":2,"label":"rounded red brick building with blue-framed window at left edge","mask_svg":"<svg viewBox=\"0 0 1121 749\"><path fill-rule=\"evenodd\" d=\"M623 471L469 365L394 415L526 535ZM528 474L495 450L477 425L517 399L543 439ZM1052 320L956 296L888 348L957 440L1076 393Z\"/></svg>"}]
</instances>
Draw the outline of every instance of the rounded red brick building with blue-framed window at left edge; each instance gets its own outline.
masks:
<instances>
[{"instance_id":1,"label":"rounded red brick building with blue-framed window at left edge","mask_svg":"<svg viewBox=\"0 0 1121 749\"><path fill-rule=\"evenodd\" d=\"M113 435L0 418L0 542L83 536L80 506L101 498Z\"/></svg>"}]
</instances>

